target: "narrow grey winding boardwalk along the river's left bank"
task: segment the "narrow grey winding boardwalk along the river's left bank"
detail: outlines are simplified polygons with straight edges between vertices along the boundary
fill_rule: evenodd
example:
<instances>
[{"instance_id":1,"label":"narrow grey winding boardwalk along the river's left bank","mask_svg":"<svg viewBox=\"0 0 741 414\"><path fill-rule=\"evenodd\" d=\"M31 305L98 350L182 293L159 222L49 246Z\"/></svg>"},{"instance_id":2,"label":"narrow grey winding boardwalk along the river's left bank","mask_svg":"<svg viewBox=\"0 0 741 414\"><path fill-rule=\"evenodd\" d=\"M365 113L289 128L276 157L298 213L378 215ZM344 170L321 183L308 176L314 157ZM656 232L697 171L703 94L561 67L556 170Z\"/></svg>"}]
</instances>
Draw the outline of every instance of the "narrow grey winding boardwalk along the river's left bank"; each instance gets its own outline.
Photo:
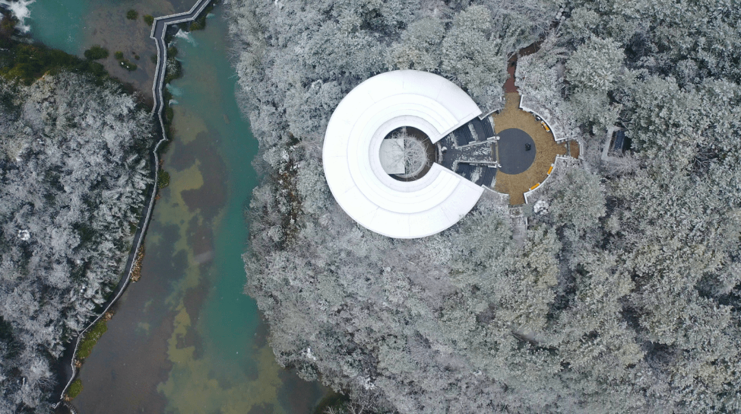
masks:
<instances>
[{"instance_id":1,"label":"narrow grey winding boardwalk along the river's left bank","mask_svg":"<svg viewBox=\"0 0 741 414\"><path fill-rule=\"evenodd\" d=\"M119 284L116 285L116 289L113 290L113 297L107 302L106 306L98 315L98 317L90 322L90 324L88 324L87 327L85 327L85 329L82 330L82 332L80 332L79 335L77 335L77 337L73 339L75 343L73 352L65 352L64 356L62 357L62 364L64 366L61 373L62 378L68 379L67 384L65 384L64 388L59 392L59 401L57 401L56 404L53 404L54 408L59 407L59 405L64 405L64 407L67 407L67 409L70 410L71 413L76 413L76 410L74 409L72 404L64 401L64 394L67 393L67 389L69 389L70 384L72 384L72 381L77 375L77 369L75 367L75 355L77 355L77 350L80 346L80 342L82 341L84 333L87 332L87 330L93 327L96 323L98 323L103 315L105 315L105 313L110 310L110 307L113 307L113 304L116 304L116 301L118 301L119 298L122 296L124 290L126 290L126 287L131 281L131 273L133 272L134 264L136 263L137 253L142 247L142 241L144 241L144 233L146 233L147 226L149 225L150 218L152 217L152 210L158 190L157 181L159 179L159 155L157 154L157 150L159 150L159 146L162 145L162 143L167 141L165 122L162 120L162 110L165 107L165 102L162 99L162 87L164 86L165 82L165 66L167 65L167 45L165 44L167 27L170 24L185 23L187 21L193 21L197 19L210 1L211 0L198 0L196 1L196 4L193 4L193 7L191 7L189 11L185 13L177 13L171 14L169 16L158 17L154 19L154 22L152 24L152 32L150 33L150 38L154 39L157 45L157 67L152 84L152 93L154 96L154 107L152 108L152 115L157 116L160 131L162 132L162 138L154 145L151 153L151 156L153 158L152 170L154 175L154 183L152 185L152 190L147 201L147 210L145 214L142 215L142 218L139 219L139 224L136 227L136 233L134 233L133 243L126 261L126 267L124 267L125 276L121 279L121 281L119 281Z\"/></svg>"}]
</instances>

